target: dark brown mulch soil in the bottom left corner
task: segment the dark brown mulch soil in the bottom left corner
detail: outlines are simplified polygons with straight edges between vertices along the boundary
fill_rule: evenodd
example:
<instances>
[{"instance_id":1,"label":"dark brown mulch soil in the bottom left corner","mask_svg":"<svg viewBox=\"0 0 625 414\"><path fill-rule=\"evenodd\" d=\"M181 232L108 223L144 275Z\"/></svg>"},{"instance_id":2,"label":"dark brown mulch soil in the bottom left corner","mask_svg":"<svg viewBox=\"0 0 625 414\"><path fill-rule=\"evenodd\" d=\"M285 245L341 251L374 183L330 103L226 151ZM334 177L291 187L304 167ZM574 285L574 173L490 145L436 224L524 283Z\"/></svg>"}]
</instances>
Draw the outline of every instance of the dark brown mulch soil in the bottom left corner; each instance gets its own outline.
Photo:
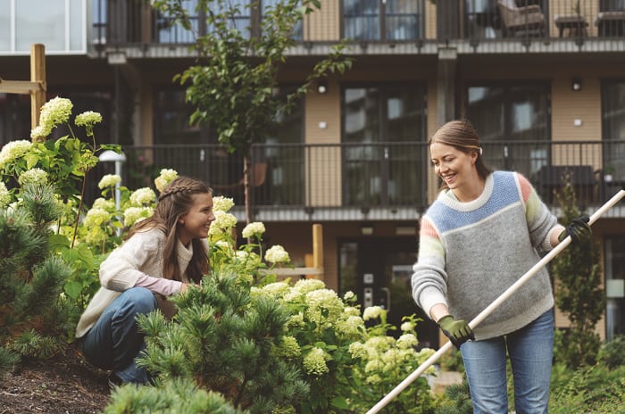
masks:
<instances>
[{"instance_id":1,"label":"dark brown mulch soil in the bottom left corner","mask_svg":"<svg viewBox=\"0 0 625 414\"><path fill-rule=\"evenodd\" d=\"M0 414L100 413L109 401L108 372L69 346L50 360L26 360L0 377Z\"/></svg>"}]
</instances>

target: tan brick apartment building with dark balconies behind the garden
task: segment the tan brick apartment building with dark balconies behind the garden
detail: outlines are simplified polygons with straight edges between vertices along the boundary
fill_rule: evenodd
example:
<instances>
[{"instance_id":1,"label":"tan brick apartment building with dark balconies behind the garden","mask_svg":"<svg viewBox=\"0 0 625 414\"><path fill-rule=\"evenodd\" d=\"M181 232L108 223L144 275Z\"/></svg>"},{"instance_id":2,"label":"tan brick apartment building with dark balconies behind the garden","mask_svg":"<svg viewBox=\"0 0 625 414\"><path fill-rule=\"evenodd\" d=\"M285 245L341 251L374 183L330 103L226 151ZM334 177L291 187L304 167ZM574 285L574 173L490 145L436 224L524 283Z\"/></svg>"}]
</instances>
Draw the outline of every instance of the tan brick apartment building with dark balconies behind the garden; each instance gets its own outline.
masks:
<instances>
[{"instance_id":1,"label":"tan brick apartment building with dark balconies behind the garden","mask_svg":"<svg viewBox=\"0 0 625 414\"><path fill-rule=\"evenodd\" d=\"M195 10L196 0L182 4ZM589 212L622 188L625 0L321 4L296 30L281 87L296 86L343 38L354 65L318 82L254 145L252 211L265 243L285 246L296 266L310 265L320 223L329 287L386 306L393 322L419 312L409 279L419 219L437 193L427 141L446 120L471 120L489 166L523 173L556 213L563 170ZM262 7L243 7L237 27L254 34ZM210 128L188 126L192 110L172 82L195 62L190 32L139 0L0 0L0 28L0 77L29 79L29 47L45 44L48 98L103 114L97 137L123 145L129 186L173 168L234 197L245 221L240 157ZM0 144L29 137L29 113L28 95L0 94ZM111 169L102 163L94 181ZM625 332L625 204L594 234L607 298L598 331L611 338ZM437 344L434 325L420 335Z\"/></svg>"}]
</instances>

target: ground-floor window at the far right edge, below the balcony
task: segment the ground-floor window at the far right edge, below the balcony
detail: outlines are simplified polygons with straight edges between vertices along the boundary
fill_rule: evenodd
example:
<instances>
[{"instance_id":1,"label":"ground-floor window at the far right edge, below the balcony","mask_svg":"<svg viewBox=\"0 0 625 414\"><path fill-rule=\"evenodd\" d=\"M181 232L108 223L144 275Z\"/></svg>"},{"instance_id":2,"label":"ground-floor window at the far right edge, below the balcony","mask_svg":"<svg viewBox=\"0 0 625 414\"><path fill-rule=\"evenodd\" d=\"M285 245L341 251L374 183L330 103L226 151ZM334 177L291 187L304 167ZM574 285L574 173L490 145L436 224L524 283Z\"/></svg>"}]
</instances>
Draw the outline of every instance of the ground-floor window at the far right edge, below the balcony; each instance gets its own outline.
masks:
<instances>
[{"instance_id":1,"label":"ground-floor window at the far right edge, below the balcony","mask_svg":"<svg viewBox=\"0 0 625 414\"><path fill-rule=\"evenodd\" d=\"M608 341L625 334L625 236L604 240L605 256L605 336Z\"/></svg>"}]
</instances>

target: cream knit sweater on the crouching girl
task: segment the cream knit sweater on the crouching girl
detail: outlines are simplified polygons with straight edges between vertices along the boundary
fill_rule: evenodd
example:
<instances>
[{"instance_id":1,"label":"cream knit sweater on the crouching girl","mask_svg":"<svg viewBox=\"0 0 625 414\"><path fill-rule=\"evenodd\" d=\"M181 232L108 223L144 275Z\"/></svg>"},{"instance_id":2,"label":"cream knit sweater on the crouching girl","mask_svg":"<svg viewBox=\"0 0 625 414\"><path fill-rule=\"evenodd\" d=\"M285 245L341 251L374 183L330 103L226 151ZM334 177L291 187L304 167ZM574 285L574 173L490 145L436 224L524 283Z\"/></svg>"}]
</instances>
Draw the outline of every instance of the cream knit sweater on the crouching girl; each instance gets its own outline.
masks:
<instances>
[{"instance_id":1,"label":"cream knit sweater on the crouching girl","mask_svg":"<svg viewBox=\"0 0 625 414\"><path fill-rule=\"evenodd\" d=\"M204 241L205 242L205 241ZM100 284L89 302L87 309L80 317L76 327L76 337L87 334L96 324L102 312L123 291L135 286L142 275L162 277L162 251L165 245L165 234L156 228L139 232L130 237L124 244L112 251L100 265ZM205 244L208 250L208 244ZM180 275L184 283L189 283L187 266L193 256L192 244L188 248L178 243L176 253Z\"/></svg>"}]
</instances>

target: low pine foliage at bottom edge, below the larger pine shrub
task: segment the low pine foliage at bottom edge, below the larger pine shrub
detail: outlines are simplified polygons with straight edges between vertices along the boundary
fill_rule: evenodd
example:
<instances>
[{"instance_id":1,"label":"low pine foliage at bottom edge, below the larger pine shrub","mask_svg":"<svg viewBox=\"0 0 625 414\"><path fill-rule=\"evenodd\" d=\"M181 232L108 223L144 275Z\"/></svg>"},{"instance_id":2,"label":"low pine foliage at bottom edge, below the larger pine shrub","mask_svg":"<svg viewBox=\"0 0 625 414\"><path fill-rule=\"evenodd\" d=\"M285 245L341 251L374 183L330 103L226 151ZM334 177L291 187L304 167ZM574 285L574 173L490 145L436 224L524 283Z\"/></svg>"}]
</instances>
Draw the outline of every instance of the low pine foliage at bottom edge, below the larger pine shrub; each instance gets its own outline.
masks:
<instances>
[{"instance_id":1,"label":"low pine foliage at bottom edge, below the larger pine shrub","mask_svg":"<svg viewBox=\"0 0 625 414\"><path fill-rule=\"evenodd\" d=\"M104 414L238 414L219 393L199 389L188 378L177 378L159 388L123 385L111 396Z\"/></svg>"}]
</instances>

